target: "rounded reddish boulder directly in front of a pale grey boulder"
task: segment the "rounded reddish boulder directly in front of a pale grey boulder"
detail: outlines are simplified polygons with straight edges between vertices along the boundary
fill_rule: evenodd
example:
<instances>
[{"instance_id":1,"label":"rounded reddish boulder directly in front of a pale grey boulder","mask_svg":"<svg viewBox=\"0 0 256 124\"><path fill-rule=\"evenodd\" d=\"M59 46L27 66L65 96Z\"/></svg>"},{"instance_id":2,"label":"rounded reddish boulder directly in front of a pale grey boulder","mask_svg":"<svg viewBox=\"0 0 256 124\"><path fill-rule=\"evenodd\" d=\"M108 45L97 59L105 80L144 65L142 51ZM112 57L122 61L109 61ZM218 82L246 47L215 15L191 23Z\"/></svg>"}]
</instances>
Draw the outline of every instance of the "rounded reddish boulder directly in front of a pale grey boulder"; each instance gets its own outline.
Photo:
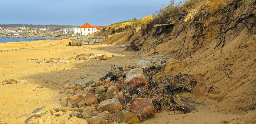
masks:
<instances>
[{"instance_id":1,"label":"rounded reddish boulder directly in front of a pale grey boulder","mask_svg":"<svg viewBox=\"0 0 256 124\"><path fill-rule=\"evenodd\" d=\"M135 74L136 75L136 74ZM141 86L145 86L146 85L147 80L145 79L144 75L143 77L133 77L130 81L129 81L129 85L132 88L139 88Z\"/></svg>"}]
</instances>

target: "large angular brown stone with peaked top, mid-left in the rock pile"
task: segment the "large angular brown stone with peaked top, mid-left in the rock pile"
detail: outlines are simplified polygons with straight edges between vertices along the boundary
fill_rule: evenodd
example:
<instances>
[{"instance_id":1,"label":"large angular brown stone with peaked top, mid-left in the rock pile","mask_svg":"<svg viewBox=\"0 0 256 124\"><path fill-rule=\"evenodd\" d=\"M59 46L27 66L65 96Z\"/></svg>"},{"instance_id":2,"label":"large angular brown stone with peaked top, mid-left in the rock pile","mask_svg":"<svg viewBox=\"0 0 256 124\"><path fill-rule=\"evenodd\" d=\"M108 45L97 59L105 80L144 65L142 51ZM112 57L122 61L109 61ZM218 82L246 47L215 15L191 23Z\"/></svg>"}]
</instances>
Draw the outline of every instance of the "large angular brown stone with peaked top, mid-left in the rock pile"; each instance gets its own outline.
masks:
<instances>
[{"instance_id":1,"label":"large angular brown stone with peaked top, mid-left in the rock pile","mask_svg":"<svg viewBox=\"0 0 256 124\"><path fill-rule=\"evenodd\" d=\"M88 92L86 96L78 103L79 106L91 106L98 103L94 93Z\"/></svg>"}]
</instances>

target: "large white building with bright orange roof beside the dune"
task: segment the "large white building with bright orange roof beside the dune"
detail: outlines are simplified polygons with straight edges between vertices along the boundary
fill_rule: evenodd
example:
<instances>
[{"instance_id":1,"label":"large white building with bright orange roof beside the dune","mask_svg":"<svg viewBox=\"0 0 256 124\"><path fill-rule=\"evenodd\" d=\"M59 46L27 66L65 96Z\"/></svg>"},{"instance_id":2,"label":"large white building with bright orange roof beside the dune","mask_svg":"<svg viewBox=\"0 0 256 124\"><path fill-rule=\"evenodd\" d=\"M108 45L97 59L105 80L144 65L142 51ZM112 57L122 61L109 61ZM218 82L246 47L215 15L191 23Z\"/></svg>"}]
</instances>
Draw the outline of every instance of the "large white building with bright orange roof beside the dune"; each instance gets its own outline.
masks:
<instances>
[{"instance_id":1,"label":"large white building with bright orange roof beside the dune","mask_svg":"<svg viewBox=\"0 0 256 124\"><path fill-rule=\"evenodd\" d=\"M82 35L92 34L96 31L100 31L100 26L91 26L88 23L85 23L83 26L76 27L74 29L75 34L82 34Z\"/></svg>"}]
</instances>

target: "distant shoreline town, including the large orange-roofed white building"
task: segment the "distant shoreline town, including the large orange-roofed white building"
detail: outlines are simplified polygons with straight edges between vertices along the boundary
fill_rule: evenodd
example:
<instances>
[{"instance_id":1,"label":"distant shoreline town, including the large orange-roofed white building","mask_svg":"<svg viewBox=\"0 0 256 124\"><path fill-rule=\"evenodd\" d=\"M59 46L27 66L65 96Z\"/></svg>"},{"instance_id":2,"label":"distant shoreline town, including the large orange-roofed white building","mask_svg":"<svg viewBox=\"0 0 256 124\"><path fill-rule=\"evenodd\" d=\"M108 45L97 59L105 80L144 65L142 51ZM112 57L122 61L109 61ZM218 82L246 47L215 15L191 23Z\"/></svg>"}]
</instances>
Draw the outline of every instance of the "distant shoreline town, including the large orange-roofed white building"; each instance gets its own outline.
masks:
<instances>
[{"instance_id":1,"label":"distant shoreline town, including the large orange-roofed white building","mask_svg":"<svg viewBox=\"0 0 256 124\"><path fill-rule=\"evenodd\" d=\"M5 35L45 35L45 34L77 34L89 35L96 31L100 31L102 26L91 26L85 23L83 26L74 28L57 28L57 27L0 27L0 34Z\"/></svg>"}]
</instances>

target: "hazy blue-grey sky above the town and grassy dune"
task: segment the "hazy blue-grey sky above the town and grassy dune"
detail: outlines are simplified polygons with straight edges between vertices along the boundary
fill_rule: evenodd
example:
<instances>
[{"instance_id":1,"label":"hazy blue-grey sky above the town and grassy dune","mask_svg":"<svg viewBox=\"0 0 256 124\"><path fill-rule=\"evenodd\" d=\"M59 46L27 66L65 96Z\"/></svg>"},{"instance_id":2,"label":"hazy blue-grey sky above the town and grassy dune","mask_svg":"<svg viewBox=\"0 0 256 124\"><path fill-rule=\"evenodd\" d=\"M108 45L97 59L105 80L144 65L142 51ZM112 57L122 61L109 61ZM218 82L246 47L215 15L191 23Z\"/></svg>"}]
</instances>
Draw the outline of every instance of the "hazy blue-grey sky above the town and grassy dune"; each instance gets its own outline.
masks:
<instances>
[{"instance_id":1,"label":"hazy blue-grey sky above the town and grassy dune","mask_svg":"<svg viewBox=\"0 0 256 124\"><path fill-rule=\"evenodd\" d=\"M169 0L0 0L0 24L107 26L152 15Z\"/></svg>"}]
</instances>

